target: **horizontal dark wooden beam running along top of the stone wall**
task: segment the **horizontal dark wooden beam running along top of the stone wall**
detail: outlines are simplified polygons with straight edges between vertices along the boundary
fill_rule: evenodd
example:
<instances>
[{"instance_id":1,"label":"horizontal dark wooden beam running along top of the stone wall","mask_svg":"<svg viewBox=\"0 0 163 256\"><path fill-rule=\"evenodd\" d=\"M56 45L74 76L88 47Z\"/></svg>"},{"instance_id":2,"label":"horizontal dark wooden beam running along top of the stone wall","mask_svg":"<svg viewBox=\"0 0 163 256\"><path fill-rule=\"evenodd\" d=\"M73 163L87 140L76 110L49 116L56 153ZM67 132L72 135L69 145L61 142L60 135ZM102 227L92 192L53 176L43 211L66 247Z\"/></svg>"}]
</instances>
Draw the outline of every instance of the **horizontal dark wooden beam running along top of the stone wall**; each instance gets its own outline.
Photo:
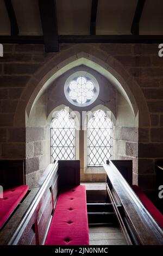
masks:
<instances>
[{"instance_id":1,"label":"horizontal dark wooden beam running along top of the stone wall","mask_svg":"<svg viewBox=\"0 0 163 256\"><path fill-rule=\"evenodd\" d=\"M116 44L162 44L163 35L59 35L60 44L116 43ZM43 44L43 36L0 35L1 44Z\"/></svg>"}]
</instances>

